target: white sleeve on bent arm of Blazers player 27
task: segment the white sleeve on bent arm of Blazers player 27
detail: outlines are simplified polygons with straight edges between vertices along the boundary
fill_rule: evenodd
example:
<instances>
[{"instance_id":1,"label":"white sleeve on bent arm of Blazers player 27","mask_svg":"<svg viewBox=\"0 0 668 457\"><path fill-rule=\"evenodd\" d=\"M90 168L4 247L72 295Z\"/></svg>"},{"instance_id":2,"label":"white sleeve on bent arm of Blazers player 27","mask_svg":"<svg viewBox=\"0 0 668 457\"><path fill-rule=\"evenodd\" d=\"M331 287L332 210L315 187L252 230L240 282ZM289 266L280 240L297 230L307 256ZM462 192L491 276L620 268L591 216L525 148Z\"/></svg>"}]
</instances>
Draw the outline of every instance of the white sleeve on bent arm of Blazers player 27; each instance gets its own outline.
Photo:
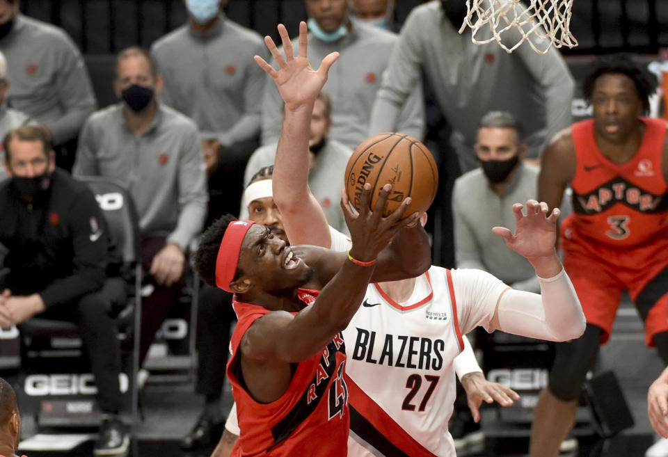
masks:
<instances>
[{"instance_id":1,"label":"white sleeve on bent arm of Blazers player 27","mask_svg":"<svg viewBox=\"0 0 668 457\"><path fill-rule=\"evenodd\" d=\"M539 281L540 295L508 289L501 296L499 330L550 341L580 337L586 321L564 269L553 278L539 278Z\"/></svg>"}]
</instances>

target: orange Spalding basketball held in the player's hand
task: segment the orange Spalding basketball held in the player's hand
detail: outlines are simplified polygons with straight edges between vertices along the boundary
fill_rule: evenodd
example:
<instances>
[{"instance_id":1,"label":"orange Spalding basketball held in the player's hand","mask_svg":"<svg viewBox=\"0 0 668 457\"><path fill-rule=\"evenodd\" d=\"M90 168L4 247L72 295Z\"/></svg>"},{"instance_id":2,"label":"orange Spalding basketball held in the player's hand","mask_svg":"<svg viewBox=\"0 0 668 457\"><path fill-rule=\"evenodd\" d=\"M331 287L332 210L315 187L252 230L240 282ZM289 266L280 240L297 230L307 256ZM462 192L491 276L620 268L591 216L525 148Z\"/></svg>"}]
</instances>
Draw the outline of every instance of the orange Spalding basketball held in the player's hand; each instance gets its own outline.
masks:
<instances>
[{"instance_id":1,"label":"orange Spalding basketball held in the player's hand","mask_svg":"<svg viewBox=\"0 0 668 457\"><path fill-rule=\"evenodd\" d=\"M413 202L404 217L427 211L438 189L438 169L431 152L412 136L396 133L372 136L360 144L348 161L344 179L348 199L358 211L364 184L371 184L371 208L383 186L392 184L383 216L395 211L406 197Z\"/></svg>"}]
</instances>

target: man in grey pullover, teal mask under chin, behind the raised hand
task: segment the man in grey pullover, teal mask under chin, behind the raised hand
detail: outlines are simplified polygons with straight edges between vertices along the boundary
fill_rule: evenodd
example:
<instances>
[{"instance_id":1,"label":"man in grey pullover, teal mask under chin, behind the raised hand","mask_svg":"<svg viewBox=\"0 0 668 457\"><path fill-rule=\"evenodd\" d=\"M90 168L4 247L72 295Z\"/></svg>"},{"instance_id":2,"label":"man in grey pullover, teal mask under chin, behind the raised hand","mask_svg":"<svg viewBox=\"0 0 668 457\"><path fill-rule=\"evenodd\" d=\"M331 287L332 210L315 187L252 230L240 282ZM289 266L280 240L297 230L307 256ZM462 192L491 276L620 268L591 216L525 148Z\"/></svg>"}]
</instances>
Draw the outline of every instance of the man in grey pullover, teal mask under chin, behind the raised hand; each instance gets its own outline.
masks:
<instances>
[{"instance_id":1,"label":"man in grey pullover, teal mask under chin, behind the raised hand","mask_svg":"<svg viewBox=\"0 0 668 457\"><path fill-rule=\"evenodd\" d=\"M351 19L348 0L305 0L305 7L312 65L333 51L341 54L337 71L329 75L324 86L333 106L329 138L354 150L368 137L371 109L397 35ZM299 40L292 41L297 49ZM424 102L419 82L411 88L406 106L400 111L387 131L422 138ZM267 78L262 101L262 145L278 141L281 120L283 100Z\"/></svg>"}]
</instances>

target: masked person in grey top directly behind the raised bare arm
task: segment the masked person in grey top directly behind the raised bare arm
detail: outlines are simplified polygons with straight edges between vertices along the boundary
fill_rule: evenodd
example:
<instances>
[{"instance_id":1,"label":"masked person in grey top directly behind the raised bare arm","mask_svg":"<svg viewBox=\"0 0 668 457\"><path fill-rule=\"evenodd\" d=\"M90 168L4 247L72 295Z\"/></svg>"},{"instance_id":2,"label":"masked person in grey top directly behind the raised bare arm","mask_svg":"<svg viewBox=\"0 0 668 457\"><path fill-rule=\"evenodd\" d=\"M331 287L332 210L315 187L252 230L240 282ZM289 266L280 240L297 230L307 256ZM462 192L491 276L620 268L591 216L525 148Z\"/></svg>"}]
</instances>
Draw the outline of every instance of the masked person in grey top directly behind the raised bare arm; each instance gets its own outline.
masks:
<instances>
[{"instance_id":1,"label":"masked person in grey top directly behind the raised bare arm","mask_svg":"<svg viewBox=\"0 0 668 457\"><path fill-rule=\"evenodd\" d=\"M329 225L340 232L347 233L348 227L339 205L343 175L348 159L353 150L339 141L330 138L333 105L329 95L321 92L313 106L309 136L309 177L313 195L325 212ZM276 158L276 143L261 146L248 159L244 183L260 167L273 165ZM246 201L241 201L241 218L246 218Z\"/></svg>"}]
</instances>

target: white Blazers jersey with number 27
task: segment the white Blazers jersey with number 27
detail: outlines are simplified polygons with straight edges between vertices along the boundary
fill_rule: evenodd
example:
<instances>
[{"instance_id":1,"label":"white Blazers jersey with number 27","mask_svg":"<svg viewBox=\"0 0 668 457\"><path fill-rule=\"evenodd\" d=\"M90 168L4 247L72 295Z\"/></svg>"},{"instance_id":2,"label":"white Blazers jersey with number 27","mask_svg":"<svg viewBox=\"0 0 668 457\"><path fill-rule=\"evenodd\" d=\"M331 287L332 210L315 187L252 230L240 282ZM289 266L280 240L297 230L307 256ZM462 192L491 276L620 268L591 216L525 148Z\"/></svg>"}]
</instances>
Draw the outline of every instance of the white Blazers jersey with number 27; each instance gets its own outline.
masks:
<instances>
[{"instance_id":1,"label":"white Blazers jersey with number 27","mask_svg":"<svg viewBox=\"0 0 668 457\"><path fill-rule=\"evenodd\" d=\"M332 248L350 241L331 231ZM369 284L343 331L351 415L349 457L454 457L447 431L461 335L489 329L507 285L479 270L431 266L406 303Z\"/></svg>"}]
</instances>

